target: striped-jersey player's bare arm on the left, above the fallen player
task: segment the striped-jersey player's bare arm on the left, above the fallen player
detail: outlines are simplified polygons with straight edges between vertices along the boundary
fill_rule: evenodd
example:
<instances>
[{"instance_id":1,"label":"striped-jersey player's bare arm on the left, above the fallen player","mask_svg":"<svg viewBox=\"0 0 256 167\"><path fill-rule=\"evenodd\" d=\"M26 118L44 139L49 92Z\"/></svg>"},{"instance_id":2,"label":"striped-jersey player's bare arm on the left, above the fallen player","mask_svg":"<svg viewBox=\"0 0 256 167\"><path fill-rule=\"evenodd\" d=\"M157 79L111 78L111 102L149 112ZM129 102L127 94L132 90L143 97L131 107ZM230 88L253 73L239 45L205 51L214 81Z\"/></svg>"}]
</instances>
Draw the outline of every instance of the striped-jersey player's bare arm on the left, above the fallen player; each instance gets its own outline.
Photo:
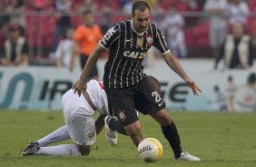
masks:
<instances>
[{"instance_id":1,"label":"striped-jersey player's bare arm on the left, above the fallen player","mask_svg":"<svg viewBox=\"0 0 256 167\"><path fill-rule=\"evenodd\" d=\"M92 52L92 54L90 54L88 61L86 62L85 66L84 66L84 70L82 72L82 74L80 75L79 80L74 83L73 89L74 89L74 93L78 93L79 96L81 95L81 93L86 91L87 88L87 78L89 76L89 74L92 72L98 58L100 57L100 55L103 52L103 47L100 44L97 44L94 47L94 51Z\"/></svg>"}]
</instances>

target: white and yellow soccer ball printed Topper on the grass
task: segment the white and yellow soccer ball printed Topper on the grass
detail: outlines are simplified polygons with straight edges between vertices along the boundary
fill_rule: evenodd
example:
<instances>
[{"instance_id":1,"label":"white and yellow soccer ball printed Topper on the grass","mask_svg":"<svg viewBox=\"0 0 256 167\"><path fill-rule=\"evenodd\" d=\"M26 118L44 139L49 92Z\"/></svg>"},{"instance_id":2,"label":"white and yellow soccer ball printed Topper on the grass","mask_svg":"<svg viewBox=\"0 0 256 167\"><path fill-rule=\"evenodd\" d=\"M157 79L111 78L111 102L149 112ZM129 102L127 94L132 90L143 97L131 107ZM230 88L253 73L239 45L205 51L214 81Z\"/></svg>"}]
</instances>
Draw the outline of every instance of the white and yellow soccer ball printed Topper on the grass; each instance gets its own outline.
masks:
<instances>
[{"instance_id":1,"label":"white and yellow soccer ball printed Topper on the grass","mask_svg":"<svg viewBox=\"0 0 256 167\"><path fill-rule=\"evenodd\" d=\"M162 144L157 139L145 138L139 143L137 151L144 162L156 162L162 157Z\"/></svg>"}]
</instances>

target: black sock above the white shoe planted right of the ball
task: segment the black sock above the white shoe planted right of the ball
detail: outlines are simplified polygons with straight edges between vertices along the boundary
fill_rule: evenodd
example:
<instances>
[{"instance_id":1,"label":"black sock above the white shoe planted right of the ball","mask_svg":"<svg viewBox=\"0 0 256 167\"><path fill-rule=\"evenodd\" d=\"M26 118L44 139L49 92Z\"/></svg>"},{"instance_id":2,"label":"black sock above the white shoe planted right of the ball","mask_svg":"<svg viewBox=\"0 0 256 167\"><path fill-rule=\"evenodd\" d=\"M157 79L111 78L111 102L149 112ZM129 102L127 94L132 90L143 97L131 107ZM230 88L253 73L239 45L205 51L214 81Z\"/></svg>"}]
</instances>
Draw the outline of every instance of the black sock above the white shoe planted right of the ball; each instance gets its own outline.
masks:
<instances>
[{"instance_id":1,"label":"black sock above the white shoe planted right of the ball","mask_svg":"<svg viewBox=\"0 0 256 167\"><path fill-rule=\"evenodd\" d=\"M179 158L182 153L182 145L180 135L176 129L175 124L172 122L170 125L161 126L162 133L172 147L175 158Z\"/></svg>"}]
</instances>

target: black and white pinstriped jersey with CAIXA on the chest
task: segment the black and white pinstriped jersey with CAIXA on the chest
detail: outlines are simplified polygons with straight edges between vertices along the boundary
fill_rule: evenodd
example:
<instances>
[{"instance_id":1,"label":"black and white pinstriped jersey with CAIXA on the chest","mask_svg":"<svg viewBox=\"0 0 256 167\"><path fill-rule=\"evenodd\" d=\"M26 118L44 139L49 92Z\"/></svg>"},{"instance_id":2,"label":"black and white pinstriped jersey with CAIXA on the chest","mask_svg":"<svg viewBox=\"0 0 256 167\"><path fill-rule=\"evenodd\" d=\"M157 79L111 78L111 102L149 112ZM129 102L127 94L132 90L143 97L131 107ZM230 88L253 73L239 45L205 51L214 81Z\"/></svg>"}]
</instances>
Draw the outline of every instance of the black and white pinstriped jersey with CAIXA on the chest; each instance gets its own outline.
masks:
<instances>
[{"instance_id":1,"label":"black and white pinstriped jersey with CAIXA on the chest","mask_svg":"<svg viewBox=\"0 0 256 167\"><path fill-rule=\"evenodd\" d=\"M152 45L162 54L170 52L157 25L150 23L143 34L138 34L131 20L113 25L99 44L109 54L103 74L107 88L124 88L142 81L146 76L143 74L143 59Z\"/></svg>"}]
</instances>

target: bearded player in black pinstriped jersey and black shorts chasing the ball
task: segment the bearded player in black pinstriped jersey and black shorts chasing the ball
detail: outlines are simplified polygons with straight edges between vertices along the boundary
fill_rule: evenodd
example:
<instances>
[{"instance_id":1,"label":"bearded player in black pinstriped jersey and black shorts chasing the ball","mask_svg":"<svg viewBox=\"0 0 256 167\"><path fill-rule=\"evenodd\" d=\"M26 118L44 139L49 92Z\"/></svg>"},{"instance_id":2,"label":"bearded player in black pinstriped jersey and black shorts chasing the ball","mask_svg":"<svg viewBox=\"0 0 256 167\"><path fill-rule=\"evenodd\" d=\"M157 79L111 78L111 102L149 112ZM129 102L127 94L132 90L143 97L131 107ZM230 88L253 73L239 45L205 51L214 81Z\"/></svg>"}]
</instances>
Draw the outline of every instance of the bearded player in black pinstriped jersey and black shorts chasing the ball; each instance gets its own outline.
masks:
<instances>
[{"instance_id":1,"label":"bearded player in black pinstriped jersey and black shorts chasing the ball","mask_svg":"<svg viewBox=\"0 0 256 167\"><path fill-rule=\"evenodd\" d=\"M150 6L144 1L137 1L133 4L132 20L113 25L95 46L80 79L74 83L74 93L77 92L80 95L86 91L84 82L103 50L107 50L109 57L103 74L105 92L113 113L135 146L143 141L141 123L135 112L135 107L140 106L140 112L150 114L161 124L162 133L170 143L175 159L199 161L199 158L182 151L179 133L165 109L165 103L159 93L154 92L147 84L142 63L151 46L162 53L166 64L182 77L194 95L201 92L198 85L184 72L182 65L170 52L161 30L151 23ZM142 98L137 100L137 96Z\"/></svg>"}]
</instances>

